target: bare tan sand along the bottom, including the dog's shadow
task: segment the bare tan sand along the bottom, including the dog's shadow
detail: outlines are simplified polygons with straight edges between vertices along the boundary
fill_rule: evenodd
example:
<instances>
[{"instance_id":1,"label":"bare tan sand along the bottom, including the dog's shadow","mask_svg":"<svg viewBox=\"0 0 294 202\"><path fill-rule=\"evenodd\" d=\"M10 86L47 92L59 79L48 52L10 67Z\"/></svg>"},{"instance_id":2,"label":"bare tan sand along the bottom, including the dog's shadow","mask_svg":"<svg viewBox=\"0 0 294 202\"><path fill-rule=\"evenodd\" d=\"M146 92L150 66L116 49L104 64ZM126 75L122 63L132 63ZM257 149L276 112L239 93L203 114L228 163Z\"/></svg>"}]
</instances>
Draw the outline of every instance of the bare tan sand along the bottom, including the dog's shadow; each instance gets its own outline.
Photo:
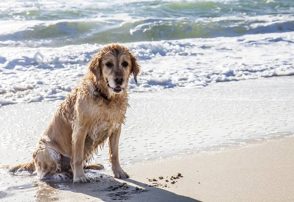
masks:
<instances>
[{"instance_id":1,"label":"bare tan sand along the bottom, including the dog's shadow","mask_svg":"<svg viewBox=\"0 0 294 202\"><path fill-rule=\"evenodd\" d=\"M293 202L293 169L294 137L277 137L215 153L203 152L136 164L125 168L131 175L126 180L113 179L109 171L88 171L92 182L85 184L35 181L10 187L5 191L12 194L10 197L0 192L0 200ZM171 177L178 173L183 177L173 179L175 183L172 184ZM163 179L160 180L160 176ZM167 187L163 187L165 184Z\"/></svg>"}]
</instances>

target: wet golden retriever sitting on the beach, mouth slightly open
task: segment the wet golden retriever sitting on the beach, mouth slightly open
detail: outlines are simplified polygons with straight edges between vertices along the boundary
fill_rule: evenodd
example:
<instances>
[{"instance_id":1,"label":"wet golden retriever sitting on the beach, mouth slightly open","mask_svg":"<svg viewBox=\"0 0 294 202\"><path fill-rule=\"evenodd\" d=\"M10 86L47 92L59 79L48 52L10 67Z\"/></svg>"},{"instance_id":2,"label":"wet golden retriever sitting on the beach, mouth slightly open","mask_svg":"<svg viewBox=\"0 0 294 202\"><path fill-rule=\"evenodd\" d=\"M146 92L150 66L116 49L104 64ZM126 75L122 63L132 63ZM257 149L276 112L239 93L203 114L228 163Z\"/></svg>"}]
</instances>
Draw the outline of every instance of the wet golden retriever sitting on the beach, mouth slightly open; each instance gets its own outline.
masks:
<instances>
[{"instance_id":1,"label":"wet golden retriever sitting on the beach, mouth slightly open","mask_svg":"<svg viewBox=\"0 0 294 202\"><path fill-rule=\"evenodd\" d=\"M128 107L127 86L133 74L137 83L140 66L136 56L123 45L111 44L93 55L88 72L59 105L49 123L33 160L9 168L10 172L30 171L40 179L87 182L85 169L98 147L109 138L109 155L115 178L128 178L119 162L119 138Z\"/></svg>"}]
</instances>

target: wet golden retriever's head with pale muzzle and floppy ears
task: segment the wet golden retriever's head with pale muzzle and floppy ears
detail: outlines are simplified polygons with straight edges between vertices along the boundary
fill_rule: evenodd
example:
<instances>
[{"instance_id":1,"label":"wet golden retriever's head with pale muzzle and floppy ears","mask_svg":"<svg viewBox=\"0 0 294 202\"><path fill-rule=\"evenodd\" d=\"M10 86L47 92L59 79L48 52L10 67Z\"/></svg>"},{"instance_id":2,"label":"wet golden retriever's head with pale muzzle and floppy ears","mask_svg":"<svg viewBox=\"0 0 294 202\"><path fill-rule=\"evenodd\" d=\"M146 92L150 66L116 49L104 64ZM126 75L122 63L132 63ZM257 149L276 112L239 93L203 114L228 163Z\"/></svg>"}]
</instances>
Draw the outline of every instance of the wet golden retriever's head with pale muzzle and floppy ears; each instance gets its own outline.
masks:
<instances>
[{"instance_id":1,"label":"wet golden retriever's head with pale muzzle and floppy ears","mask_svg":"<svg viewBox=\"0 0 294 202\"><path fill-rule=\"evenodd\" d=\"M97 83L106 82L111 92L121 93L127 87L131 74L137 83L140 66L137 57L127 47L111 44L93 55L89 71L96 77Z\"/></svg>"}]
</instances>

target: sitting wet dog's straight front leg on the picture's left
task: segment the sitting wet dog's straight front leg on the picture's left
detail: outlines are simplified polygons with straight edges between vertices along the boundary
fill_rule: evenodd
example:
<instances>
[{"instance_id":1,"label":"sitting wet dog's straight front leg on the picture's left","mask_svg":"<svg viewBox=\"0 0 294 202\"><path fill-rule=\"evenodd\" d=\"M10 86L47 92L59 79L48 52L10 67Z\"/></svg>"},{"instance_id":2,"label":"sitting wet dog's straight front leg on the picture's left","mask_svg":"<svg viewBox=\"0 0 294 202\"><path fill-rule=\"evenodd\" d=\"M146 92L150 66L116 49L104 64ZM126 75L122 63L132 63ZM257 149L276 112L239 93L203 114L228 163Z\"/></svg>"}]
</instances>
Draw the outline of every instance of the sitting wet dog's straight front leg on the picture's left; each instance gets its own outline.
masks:
<instances>
[{"instance_id":1,"label":"sitting wet dog's straight front leg on the picture's left","mask_svg":"<svg viewBox=\"0 0 294 202\"><path fill-rule=\"evenodd\" d=\"M87 131L79 126L77 123L73 126L72 135L72 159L71 166L73 169L73 182L87 182L90 181L84 173L84 145Z\"/></svg>"}]
</instances>

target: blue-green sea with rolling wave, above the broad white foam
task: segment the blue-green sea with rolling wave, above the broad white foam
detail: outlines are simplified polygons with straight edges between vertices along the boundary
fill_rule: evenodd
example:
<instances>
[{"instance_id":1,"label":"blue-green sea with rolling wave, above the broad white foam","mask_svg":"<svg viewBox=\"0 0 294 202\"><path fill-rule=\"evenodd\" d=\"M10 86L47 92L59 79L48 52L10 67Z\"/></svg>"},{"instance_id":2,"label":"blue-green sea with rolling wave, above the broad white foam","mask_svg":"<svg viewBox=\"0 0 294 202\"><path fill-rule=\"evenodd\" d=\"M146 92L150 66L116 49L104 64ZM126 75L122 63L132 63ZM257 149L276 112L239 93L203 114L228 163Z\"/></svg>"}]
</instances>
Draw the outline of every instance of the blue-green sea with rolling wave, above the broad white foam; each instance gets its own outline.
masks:
<instances>
[{"instance_id":1,"label":"blue-green sea with rolling wave, above the broad white foam","mask_svg":"<svg viewBox=\"0 0 294 202\"><path fill-rule=\"evenodd\" d=\"M4 21L25 25L5 30L0 45L7 40L57 47L234 37L293 31L294 0L2 0L0 25Z\"/></svg>"}]
</instances>

